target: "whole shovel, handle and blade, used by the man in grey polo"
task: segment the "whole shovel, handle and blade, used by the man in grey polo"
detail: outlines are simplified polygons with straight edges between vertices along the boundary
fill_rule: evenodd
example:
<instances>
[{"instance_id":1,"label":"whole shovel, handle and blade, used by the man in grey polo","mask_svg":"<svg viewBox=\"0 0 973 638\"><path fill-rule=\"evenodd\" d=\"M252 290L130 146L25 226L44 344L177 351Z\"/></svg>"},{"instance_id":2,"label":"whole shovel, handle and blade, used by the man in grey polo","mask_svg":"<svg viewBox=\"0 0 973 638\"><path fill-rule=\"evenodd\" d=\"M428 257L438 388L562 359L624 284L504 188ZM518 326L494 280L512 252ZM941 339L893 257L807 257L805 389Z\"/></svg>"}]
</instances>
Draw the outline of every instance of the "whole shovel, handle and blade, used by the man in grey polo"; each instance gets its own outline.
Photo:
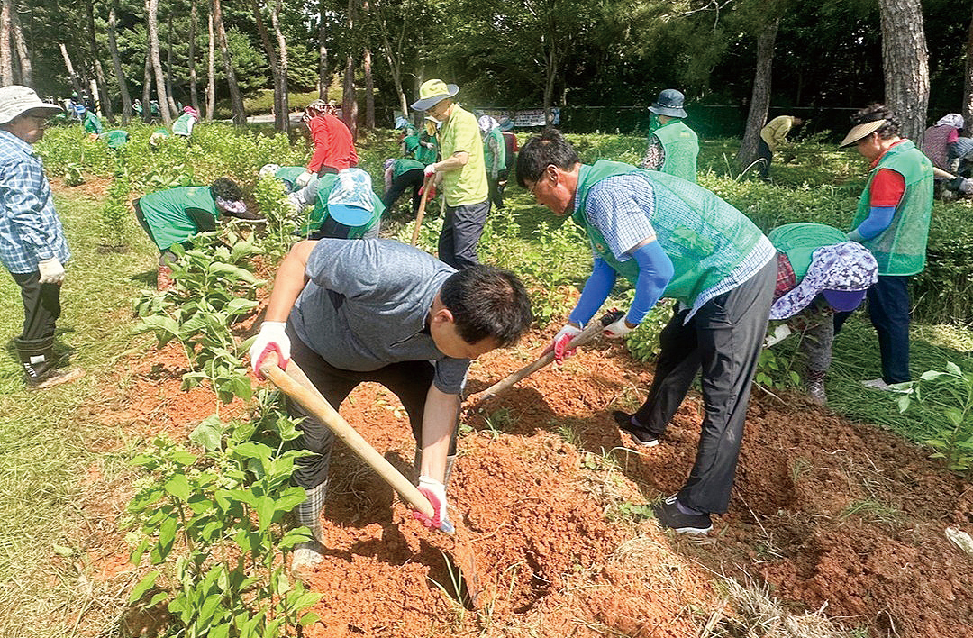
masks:
<instances>
[{"instance_id":1,"label":"whole shovel, handle and blade, used by the man in grey polo","mask_svg":"<svg viewBox=\"0 0 973 638\"><path fill-rule=\"evenodd\" d=\"M296 401L308 412L321 420L336 437L348 446L361 460L375 470L378 476L391 485L392 489L415 510L432 518L435 515L432 504L418 490L408 478L402 476L384 456L372 447L365 439L358 434L351 425L344 420L341 414L331 404L321 396L314 384L310 382L304 371L293 361L287 366L287 372L277 367L276 353L270 353L260 367L260 372L277 387L278 390ZM459 567L460 575L466 585L466 594L473 609L477 608L480 596L481 585L480 577L477 573L476 558L470 543L469 533L461 521L457 521L456 529L449 520L443 522L440 531L448 534L453 539L452 563ZM444 555L449 555L444 551ZM459 583L459 580L455 580ZM458 585L457 585L458 589ZM460 592L456 592L460 597Z\"/></svg>"}]
</instances>

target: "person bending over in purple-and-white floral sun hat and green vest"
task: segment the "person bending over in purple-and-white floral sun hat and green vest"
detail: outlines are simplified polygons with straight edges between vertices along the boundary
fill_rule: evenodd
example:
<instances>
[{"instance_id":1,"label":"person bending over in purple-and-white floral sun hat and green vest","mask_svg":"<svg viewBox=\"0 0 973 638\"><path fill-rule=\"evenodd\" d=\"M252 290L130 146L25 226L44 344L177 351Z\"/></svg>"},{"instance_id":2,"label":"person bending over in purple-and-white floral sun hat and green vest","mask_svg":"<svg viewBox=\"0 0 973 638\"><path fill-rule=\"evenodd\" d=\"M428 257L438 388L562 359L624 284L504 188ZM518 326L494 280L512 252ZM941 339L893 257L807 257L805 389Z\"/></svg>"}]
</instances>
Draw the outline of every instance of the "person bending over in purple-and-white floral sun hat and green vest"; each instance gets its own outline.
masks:
<instances>
[{"instance_id":1,"label":"person bending over in purple-and-white floral sun hat and green vest","mask_svg":"<svg viewBox=\"0 0 973 638\"><path fill-rule=\"evenodd\" d=\"M807 391L811 401L827 403L824 376L831 367L834 313L850 312L878 281L879 265L867 248L846 233L823 224L787 224L767 237L777 249L777 285L771 320L786 320L801 335L808 358ZM777 339L774 339L774 342Z\"/></svg>"}]
</instances>

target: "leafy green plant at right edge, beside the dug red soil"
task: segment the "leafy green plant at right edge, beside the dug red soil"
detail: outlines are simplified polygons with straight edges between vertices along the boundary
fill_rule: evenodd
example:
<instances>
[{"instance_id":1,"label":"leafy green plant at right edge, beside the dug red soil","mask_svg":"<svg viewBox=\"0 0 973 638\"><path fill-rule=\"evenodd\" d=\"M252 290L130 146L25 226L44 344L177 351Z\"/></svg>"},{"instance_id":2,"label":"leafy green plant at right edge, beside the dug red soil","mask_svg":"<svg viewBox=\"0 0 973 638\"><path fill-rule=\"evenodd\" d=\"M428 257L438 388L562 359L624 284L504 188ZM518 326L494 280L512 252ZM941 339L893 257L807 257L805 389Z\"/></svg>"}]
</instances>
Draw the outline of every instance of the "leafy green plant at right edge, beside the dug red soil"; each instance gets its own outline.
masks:
<instances>
[{"instance_id":1,"label":"leafy green plant at right edge, beside the dug red soil","mask_svg":"<svg viewBox=\"0 0 973 638\"><path fill-rule=\"evenodd\" d=\"M939 416L932 438L925 442L936 450L930 457L943 459L950 470L973 475L973 372L949 362L943 372L922 372L918 381L893 387L904 391L900 412L916 402Z\"/></svg>"}]
</instances>

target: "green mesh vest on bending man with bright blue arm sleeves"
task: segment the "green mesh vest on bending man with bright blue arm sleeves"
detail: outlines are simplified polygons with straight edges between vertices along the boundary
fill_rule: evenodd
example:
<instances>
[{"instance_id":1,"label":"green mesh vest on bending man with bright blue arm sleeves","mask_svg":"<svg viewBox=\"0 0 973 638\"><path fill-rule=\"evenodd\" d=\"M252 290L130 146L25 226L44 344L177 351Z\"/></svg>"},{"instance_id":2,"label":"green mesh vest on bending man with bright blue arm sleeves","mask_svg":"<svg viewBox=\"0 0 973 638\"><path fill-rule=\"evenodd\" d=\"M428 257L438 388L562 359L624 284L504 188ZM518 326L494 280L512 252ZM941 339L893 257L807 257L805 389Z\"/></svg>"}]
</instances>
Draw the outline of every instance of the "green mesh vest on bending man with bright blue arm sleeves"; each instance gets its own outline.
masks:
<instances>
[{"instance_id":1,"label":"green mesh vest on bending man with bright blue arm sleeves","mask_svg":"<svg viewBox=\"0 0 973 638\"><path fill-rule=\"evenodd\" d=\"M591 166L581 167L574 195L580 197L581 204L571 218L588 233L595 254L632 284L638 280L635 260L615 259L585 214L588 192L595 184L629 174L644 178L652 186L655 208L647 217L673 267L663 297L693 305L700 293L725 279L760 241L760 229L753 222L702 187L667 173L599 159Z\"/></svg>"}]
</instances>

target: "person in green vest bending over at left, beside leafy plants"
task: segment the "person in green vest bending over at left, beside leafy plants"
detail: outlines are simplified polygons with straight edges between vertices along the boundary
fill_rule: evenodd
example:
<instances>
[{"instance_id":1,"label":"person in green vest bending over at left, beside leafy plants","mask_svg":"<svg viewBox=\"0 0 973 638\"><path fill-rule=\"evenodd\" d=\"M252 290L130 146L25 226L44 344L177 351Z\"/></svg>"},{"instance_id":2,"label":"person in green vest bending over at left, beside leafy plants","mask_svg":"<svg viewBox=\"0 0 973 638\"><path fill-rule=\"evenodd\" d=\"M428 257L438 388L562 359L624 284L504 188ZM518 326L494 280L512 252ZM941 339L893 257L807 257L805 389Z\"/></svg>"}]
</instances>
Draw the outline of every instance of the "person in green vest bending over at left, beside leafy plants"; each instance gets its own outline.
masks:
<instances>
[{"instance_id":1,"label":"person in green vest bending over at left, beside leafy plants","mask_svg":"<svg viewBox=\"0 0 973 638\"><path fill-rule=\"evenodd\" d=\"M216 230L220 215L247 221L263 222L264 218L247 211L243 191L231 179L221 177L210 186L186 186L157 191L132 200L135 219L161 253L157 287L172 285L172 268L176 261L170 250L175 244L189 247L193 235Z\"/></svg>"}]
</instances>

